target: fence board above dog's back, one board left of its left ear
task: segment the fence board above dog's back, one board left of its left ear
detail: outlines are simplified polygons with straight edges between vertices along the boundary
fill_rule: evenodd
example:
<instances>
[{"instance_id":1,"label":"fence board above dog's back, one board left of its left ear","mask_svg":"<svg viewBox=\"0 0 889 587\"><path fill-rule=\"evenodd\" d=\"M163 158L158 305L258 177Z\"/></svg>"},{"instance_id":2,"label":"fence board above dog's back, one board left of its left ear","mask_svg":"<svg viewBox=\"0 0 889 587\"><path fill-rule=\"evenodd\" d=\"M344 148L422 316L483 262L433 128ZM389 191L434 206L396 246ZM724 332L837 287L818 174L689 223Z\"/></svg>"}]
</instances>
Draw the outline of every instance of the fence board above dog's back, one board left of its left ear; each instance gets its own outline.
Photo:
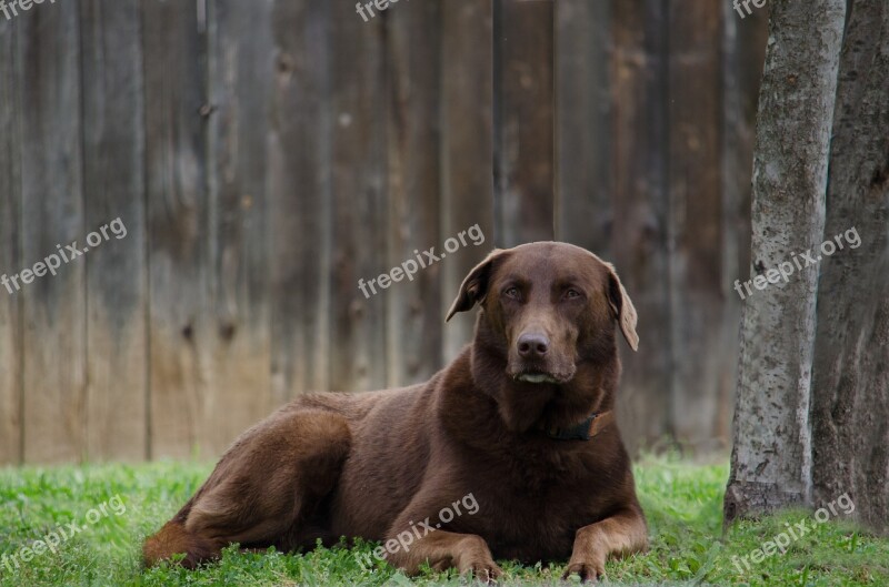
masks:
<instances>
[{"instance_id":1,"label":"fence board above dog's back, one board left of its left ear","mask_svg":"<svg viewBox=\"0 0 889 587\"><path fill-rule=\"evenodd\" d=\"M387 301L390 385L420 382L441 367L439 229L440 2L403 3L383 13L387 27L389 255L380 273L434 247L441 257L379 295ZM418 251L419 253L414 253Z\"/></svg>"}]
</instances>

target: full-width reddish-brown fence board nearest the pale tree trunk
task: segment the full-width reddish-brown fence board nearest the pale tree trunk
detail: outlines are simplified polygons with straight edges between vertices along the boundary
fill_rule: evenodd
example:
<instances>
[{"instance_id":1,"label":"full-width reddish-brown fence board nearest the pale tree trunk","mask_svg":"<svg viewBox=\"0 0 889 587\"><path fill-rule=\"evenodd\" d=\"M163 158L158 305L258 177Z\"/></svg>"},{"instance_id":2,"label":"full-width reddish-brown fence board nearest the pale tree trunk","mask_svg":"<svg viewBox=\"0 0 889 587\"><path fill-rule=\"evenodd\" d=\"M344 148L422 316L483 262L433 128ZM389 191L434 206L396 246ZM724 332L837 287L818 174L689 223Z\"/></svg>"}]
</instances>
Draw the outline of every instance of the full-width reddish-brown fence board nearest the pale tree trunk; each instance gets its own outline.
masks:
<instances>
[{"instance_id":1,"label":"full-width reddish-brown fence board nearest the pale tree trunk","mask_svg":"<svg viewBox=\"0 0 889 587\"><path fill-rule=\"evenodd\" d=\"M722 243L733 226L722 224L720 23L715 2L670 6L670 419L677 439L692 447L728 422L737 338L727 336L737 323L722 321Z\"/></svg>"}]
</instances>

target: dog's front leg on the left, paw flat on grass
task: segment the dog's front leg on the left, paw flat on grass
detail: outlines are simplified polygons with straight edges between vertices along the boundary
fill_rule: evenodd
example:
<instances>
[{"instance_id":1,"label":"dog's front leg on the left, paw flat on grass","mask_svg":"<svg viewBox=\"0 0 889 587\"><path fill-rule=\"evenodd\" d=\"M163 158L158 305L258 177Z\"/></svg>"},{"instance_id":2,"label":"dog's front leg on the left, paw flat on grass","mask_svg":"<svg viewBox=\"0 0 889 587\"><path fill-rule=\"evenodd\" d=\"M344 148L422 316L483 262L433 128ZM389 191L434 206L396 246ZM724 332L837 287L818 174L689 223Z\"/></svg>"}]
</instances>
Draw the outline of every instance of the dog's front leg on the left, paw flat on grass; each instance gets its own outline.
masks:
<instances>
[{"instance_id":1,"label":"dog's front leg on the left, paw flat on grass","mask_svg":"<svg viewBox=\"0 0 889 587\"><path fill-rule=\"evenodd\" d=\"M503 573L493 561L488 543L476 534L434 530L409 543L406 535L410 533L397 534L384 545L389 563L408 575L416 575L423 563L429 563L436 570L453 567L461 575L471 573L486 583L496 580ZM398 543L397 547L394 543Z\"/></svg>"}]
</instances>

